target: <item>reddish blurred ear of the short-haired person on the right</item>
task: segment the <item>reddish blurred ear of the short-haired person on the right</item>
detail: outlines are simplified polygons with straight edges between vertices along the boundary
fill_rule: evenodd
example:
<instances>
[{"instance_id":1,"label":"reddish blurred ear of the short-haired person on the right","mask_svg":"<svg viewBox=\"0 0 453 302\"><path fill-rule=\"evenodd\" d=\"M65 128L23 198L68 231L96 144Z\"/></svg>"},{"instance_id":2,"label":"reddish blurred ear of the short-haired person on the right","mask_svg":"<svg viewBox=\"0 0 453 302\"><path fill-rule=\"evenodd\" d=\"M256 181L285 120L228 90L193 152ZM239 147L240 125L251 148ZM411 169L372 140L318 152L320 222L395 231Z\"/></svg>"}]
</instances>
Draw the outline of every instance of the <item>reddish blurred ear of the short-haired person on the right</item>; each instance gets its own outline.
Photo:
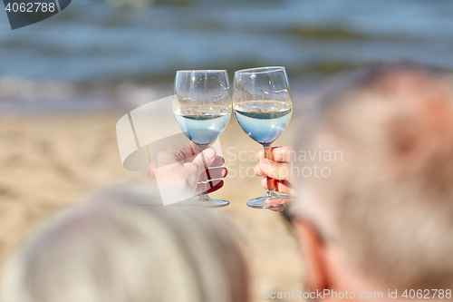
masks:
<instances>
[{"instance_id":1,"label":"reddish blurred ear of the short-haired person on the right","mask_svg":"<svg viewBox=\"0 0 453 302\"><path fill-rule=\"evenodd\" d=\"M323 239L320 238L313 224L304 219L294 221L294 231L304 258L307 287L305 290L330 289L328 258Z\"/></svg>"}]
</instances>

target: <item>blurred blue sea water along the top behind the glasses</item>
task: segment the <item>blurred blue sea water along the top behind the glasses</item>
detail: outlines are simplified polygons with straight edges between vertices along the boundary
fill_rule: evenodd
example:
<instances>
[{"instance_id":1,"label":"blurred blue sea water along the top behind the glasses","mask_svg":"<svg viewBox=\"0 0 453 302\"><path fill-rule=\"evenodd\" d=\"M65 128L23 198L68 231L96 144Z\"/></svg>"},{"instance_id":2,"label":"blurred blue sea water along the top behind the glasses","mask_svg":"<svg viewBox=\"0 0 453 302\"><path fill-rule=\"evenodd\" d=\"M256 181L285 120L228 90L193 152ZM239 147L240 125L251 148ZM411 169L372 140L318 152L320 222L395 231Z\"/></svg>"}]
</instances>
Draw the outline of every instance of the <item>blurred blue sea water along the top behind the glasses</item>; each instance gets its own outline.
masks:
<instances>
[{"instance_id":1,"label":"blurred blue sea water along the top behind the glasses","mask_svg":"<svg viewBox=\"0 0 453 302\"><path fill-rule=\"evenodd\" d=\"M378 60L453 69L449 0L73 0L14 31L0 15L2 100L164 95L180 69L284 65L298 87Z\"/></svg>"}]
</instances>

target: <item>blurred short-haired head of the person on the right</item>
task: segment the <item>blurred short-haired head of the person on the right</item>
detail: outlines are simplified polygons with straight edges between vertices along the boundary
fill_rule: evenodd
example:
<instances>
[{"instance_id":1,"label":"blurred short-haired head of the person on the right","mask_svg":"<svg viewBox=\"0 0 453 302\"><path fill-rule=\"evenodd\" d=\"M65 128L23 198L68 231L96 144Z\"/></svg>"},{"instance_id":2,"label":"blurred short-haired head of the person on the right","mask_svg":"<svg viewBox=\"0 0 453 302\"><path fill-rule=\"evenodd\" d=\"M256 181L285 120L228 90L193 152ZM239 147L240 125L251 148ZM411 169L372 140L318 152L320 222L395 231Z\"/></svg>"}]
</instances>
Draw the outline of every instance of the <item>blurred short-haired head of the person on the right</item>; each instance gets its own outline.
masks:
<instances>
[{"instance_id":1,"label":"blurred short-haired head of the person on the right","mask_svg":"<svg viewBox=\"0 0 453 302\"><path fill-rule=\"evenodd\" d=\"M452 84L411 63L343 74L304 129L299 150L341 156L316 159L331 173L301 180L299 213L382 285L453 285Z\"/></svg>"}]
</instances>

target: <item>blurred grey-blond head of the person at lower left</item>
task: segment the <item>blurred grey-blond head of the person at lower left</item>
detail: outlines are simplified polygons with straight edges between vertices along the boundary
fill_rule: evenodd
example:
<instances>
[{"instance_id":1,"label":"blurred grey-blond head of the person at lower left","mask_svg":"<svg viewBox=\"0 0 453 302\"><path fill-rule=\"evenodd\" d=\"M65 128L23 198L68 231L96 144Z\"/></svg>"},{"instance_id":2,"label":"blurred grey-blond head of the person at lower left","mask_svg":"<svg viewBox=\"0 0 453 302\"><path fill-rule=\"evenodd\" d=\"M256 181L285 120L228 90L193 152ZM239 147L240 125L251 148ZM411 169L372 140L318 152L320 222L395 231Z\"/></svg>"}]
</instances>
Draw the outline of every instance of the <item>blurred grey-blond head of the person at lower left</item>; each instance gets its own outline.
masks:
<instances>
[{"instance_id":1,"label":"blurred grey-blond head of the person at lower left","mask_svg":"<svg viewBox=\"0 0 453 302\"><path fill-rule=\"evenodd\" d=\"M34 237L5 270L5 302L238 302L246 265L229 225L107 190Z\"/></svg>"}]
</instances>

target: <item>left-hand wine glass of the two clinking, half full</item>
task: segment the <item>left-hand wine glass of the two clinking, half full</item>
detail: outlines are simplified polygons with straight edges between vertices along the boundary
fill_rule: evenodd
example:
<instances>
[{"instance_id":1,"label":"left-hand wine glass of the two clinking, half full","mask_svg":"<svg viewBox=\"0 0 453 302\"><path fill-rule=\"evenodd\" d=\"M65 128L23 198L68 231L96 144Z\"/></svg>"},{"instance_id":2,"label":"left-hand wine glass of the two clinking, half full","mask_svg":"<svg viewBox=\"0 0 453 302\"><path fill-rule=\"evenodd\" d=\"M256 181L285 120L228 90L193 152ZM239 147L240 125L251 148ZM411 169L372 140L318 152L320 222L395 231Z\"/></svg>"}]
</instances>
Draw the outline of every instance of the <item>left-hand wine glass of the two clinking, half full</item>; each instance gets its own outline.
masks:
<instances>
[{"instance_id":1,"label":"left-hand wine glass of the two clinking, half full","mask_svg":"<svg viewBox=\"0 0 453 302\"><path fill-rule=\"evenodd\" d=\"M178 71L175 77L173 113L182 132L199 150L207 148L224 131L231 116L231 94L225 70ZM202 160L205 162L203 153ZM209 170L207 182L213 188ZM225 207L226 200L215 200L206 193L188 200L188 204Z\"/></svg>"}]
</instances>

